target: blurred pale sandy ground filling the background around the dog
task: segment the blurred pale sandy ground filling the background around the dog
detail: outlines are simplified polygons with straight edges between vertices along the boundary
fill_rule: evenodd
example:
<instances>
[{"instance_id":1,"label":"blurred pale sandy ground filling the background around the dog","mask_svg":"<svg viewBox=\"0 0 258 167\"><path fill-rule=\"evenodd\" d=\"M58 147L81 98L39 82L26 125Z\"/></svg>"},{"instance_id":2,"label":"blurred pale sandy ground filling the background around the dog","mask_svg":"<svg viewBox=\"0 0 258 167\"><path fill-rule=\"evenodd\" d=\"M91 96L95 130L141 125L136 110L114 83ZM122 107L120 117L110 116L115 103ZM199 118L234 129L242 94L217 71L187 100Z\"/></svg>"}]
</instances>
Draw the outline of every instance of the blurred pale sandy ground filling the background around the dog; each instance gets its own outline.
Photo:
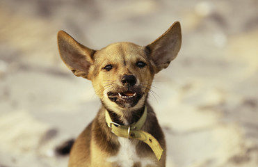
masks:
<instances>
[{"instance_id":1,"label":"blurred pale sandy ground filling the background around the dog","mask_svg":"<svg viewBox=\"0 0 258 167\"><path fill-rule=\"evenodd\" d=\"M182 25L178 57L149 100L166 134L168 167L258 166L257 0L0 1L0 167L67 166L100 102L58 54L63 29L92 49L147 45Z\"/></svg>"}]
</instances>

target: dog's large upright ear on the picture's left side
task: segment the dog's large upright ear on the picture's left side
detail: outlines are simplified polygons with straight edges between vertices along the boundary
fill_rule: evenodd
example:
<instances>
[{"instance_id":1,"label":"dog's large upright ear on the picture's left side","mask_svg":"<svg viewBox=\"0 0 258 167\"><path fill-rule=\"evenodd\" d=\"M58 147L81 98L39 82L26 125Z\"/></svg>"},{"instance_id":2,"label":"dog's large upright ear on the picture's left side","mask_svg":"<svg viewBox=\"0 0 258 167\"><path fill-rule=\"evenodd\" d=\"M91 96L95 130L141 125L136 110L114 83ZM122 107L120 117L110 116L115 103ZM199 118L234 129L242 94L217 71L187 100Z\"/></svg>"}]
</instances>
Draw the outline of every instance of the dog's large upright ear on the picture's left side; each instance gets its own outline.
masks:
<instances>
[{"instance_id":1,"label":"dog's large upright ear on the picture's left side","mask_svg":"<svg viewBox=\"0 0 258 167\"><path fill-rule=\"evenodd\" d=\"M89 69L93 63L92 56L95 54L95 50L81 45L65 31L59 31L57 38L59 54L65 65L77 77L90 79Z\"/></svg>"}]
</instances>

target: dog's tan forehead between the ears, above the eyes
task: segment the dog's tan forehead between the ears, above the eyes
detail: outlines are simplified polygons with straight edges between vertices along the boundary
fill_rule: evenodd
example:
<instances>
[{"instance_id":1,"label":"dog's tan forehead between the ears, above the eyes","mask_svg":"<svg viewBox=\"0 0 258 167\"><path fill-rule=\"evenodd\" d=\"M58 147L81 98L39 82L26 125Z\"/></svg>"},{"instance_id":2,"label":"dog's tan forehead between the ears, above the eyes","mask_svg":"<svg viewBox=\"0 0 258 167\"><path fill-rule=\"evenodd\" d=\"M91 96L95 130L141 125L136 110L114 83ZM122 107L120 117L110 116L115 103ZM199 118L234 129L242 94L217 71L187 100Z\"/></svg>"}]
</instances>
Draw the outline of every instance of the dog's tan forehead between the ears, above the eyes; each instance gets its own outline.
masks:
<instances>
[{"instance_id":1,"label":"dog's tan forehead between the ears, above the eyes","mask_svg":"<svg viewBox=\"0 0 258 167\"><path fill-rule=\"evenodd\" d=\"M141 47L132 42L117 42L99 50L99 54L104 55L103 58L109 60L130 60L134 58L147 58L145 47Z\"/></svg>"}]
</instances>

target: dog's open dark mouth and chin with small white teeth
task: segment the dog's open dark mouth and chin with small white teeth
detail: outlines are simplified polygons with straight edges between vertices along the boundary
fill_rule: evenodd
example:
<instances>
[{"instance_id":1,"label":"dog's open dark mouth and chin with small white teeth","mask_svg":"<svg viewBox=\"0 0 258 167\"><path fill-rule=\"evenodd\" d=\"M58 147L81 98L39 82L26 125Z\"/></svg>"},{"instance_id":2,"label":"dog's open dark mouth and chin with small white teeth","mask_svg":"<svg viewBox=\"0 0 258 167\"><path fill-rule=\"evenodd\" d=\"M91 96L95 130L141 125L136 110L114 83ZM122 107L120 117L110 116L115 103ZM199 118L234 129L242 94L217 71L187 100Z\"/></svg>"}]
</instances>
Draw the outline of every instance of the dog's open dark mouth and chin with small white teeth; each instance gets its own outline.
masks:
<instances>
[{"instance_id":1,"label":"dog's open dark mouth and chin with small white teeth","mask_svg":"<svg viewBox=\"0 0 258 167\"><path fill-rule=\"evenodd\" d=\"M134 92L134 91L125 91L125 92L108 92L108 99L111 102L115 102L118 106L128 109L136 106L139 100L143 97L143 93Z\"/></svg>"}]
</instances>

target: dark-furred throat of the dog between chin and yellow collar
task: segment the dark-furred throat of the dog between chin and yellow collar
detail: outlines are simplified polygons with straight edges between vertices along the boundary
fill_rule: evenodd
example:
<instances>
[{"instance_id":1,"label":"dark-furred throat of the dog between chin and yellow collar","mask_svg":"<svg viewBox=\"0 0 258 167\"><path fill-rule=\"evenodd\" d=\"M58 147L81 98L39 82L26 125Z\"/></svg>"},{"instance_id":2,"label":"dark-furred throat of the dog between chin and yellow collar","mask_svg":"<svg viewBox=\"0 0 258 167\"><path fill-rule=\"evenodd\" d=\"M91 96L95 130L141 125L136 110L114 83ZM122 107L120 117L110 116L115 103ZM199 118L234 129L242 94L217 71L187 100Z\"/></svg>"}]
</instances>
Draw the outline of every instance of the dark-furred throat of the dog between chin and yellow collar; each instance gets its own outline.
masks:
<instances>
[{"instance_id":1,"label":"dark-furred throat of the dog between chin and yellow collar","mask_svg":"<svg viewBox=\"0 0 258 167\"><path fill-rule=\"evenodd\" d=\"M131 125L137 122L141 116L143 116L144 110L145 106L135 111L128 111L128 113L126 113L127 111L121 111L122 116L120 116L118 113L115 113L115 111L106 109L111 117L111 120L119 125Z\"/></svg>"}]
</instances>

